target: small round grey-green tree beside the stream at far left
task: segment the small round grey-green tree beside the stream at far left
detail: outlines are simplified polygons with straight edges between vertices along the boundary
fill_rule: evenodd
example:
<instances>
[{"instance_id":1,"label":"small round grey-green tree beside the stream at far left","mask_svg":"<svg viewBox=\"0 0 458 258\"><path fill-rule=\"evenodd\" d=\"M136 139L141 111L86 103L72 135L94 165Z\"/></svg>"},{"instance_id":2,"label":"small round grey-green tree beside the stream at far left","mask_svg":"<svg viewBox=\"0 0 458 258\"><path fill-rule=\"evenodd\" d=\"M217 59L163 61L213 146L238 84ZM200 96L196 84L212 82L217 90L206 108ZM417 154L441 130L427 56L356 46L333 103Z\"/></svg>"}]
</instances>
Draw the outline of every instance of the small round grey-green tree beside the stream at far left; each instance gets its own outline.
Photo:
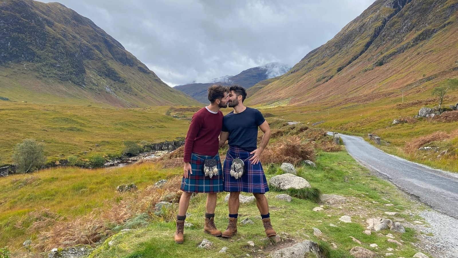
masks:
<instances>
[{"instance_id":1,"label":"small round grey-green tree beside the stream at far left","mask_svg":"<svg viewBox=\"0 0 458 258\"><path fill-rule=\"evenodd\" d=\"M18 165L19 171L25 173L33 171L46 161L44 146L34 139L25 139L16 145L12 158Z\"/></svg>"}]
</instances>

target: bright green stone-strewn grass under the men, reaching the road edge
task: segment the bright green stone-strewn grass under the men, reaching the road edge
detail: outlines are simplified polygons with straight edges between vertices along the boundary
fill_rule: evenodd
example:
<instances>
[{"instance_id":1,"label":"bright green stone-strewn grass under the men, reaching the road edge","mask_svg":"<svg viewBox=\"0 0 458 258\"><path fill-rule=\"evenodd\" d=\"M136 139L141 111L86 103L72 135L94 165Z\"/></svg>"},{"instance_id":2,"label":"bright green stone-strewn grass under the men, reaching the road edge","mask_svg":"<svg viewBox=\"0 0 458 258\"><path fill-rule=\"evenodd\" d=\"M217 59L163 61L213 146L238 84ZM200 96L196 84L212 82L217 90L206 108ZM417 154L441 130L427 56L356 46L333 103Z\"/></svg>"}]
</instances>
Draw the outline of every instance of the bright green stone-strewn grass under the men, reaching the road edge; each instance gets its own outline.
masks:
<instances>
[{"instance_id":1,"label":"bright green stone-strewn grass under the men, reaching the road edge","mask_svg":"<svg viewBox=\"0 0 458 258\"><path fill-rule=\"evenodd\" d=\"M266 193L270 205L270 214L273 227L280 235L292 239L293 241L302 241L309 239L317 241L324 252L328 253L328 257L351 257L349 250L354 246L359 246L354 243L349 236L354 236L363 242L363 247L378 252L379 255L385 253L388 247L396 248L399 251L393 251L396 257L411 257L417 250L410 244L417 241L414 235L416 232L412 229L407 229L404 234L393 233L389 230L381 231L384 235L393 233L396 239L405 241L403 247L396 247L395 244L387 242L387 237L379 237L376 234L367 236L363 233L367 218L380 216L385 211L395 211L395 208L405 210L411 208L413 202L406 199L390 183L379 179L371 174L365 168L360 167L345 151L336 153L321 152L317 157L317 168L300 167L299 174L307 179L312 187L320 189L326 194L341 194L352 198L351 205L346 206L344 210L330 205L325 205L325 211L313 212L312 208L317 204L311 200L293 197L292 202L284 202L277 200L276 195L287 193L286 191L271 190ZM266 165L266 176L270 178L277 174L278 165ZM227 193L218 194L217 208L215 211L215 222L218 229L224 230L227 226L227 203L224 202L224 196ZM245 195L247 195L245 193ZM384 205L386 201L382 198L389 198L394 207ZM186 220L193 224L190 229L185 229L185 243L175 244L173 241L174 221L152 221L146 228L140 228L120 233L106 240L103 245L97 247L96 251L91 254L92 258L108 258L108 257L243 257L246 253L251 256L265 256L264 247L267 243L262 239L265 237L264 229L260 219L255 216L259 215L259 211L254 203L246 203L240 205L239 221L250 218L254 224L239 225L238 233L230 240L216 238L204 234L203 228L203 213L205 210L206 196L199 194L191 199L188 212L191 213ZM372 203L376 201L379 203ZM352 210L357 207L364 207L364 213L361 213L363 218L357 215L352 215L353 223L338 223L338 218L344 213L355 212ZM175 207L176 208L176 207ZM401 212L402 211L398 211ZM328 216L330 215L330 216ZM405 217L410 221L413 218ZM337 224L334 228L329 226L329 223ZM313 236L312 227L319 228L323 232L326 241ZM202 250L196 246L202 239L209 239L213 242L213 246L209 250ZM108 242L114 241L114 245L109 247ZM255 247L250 247L246 242L254 241ZM336 243L338 249L329 248L329 243ZM369 244L376 243L378 249L369 247ZM222 247L228 247L226 254L218 253ZM262 251L258 251L261 249Z\"/></svg>"}]
</instances>

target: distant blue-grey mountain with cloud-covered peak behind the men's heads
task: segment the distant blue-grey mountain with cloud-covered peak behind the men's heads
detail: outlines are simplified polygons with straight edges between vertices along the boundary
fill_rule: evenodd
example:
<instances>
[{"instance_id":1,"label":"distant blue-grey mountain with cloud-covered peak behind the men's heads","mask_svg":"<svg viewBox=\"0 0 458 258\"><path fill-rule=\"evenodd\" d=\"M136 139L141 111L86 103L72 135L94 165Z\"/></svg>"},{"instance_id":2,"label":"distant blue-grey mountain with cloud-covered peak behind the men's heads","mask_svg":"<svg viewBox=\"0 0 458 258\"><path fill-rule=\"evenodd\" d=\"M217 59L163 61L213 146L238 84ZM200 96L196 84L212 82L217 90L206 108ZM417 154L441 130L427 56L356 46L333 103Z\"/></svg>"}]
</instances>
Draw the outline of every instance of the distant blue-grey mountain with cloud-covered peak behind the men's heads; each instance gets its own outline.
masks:
<instances>
[{"instance_id":1,"label":"distant blue-grey mountain with cloud-covered peak behind the men's heads","mask_svg":"<svg viewBox=\"0 0 458 258\"><path fill-rule=\"evenodd\" d=\"M245 89L248 89L256 83L270 79L286 73L289 70L286 64L273 62L263 66L252 67L242 71L234 76L223 76L218 79L213 79L212 83L193 83L175 86L174 89L183 91L187 95L195 98L196 100L207 103L207 89L213 84L232 85L238 84Z\"/></svg>"}]
</instances>

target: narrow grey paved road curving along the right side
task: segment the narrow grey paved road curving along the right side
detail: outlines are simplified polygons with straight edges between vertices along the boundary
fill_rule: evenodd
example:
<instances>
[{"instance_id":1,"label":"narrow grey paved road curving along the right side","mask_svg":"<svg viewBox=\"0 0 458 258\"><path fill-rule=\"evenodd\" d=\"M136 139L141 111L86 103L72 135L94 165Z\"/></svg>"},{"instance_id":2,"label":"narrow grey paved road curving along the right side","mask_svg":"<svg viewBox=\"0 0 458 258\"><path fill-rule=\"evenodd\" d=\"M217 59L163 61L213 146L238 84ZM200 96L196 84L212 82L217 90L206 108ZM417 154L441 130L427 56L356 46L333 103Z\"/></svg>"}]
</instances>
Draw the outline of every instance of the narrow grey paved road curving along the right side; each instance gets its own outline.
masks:
<instances>
[{"instance_id":1,"label":"narrow grey paved road curving along the right side","mask_svg":"<svg viewBox=\"0 0 458 258\"><path fill-rule=\"evenodd\" d=\"M340 135L340 138L354 159L384 175L403 191L417 196L421 202L458 219L457 175L388 155L361 137Z\"/></svg>"}]
</instances>

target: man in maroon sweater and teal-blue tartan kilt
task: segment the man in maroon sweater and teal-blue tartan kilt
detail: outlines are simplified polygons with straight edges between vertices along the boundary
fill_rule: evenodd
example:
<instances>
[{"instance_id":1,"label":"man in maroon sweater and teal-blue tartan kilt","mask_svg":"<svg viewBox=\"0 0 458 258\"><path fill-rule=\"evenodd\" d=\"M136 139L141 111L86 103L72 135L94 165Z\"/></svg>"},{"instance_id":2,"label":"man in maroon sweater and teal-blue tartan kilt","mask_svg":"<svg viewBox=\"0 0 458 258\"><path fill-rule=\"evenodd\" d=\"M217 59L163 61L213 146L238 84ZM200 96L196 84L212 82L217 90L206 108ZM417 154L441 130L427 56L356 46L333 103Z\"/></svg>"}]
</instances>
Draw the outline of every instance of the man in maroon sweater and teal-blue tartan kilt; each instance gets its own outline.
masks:
<instances>
[{"instance_id":1,"label":"man in maroon sweater and teal-blue tartan kilt","mask_svg":"<svg viewBox=\"0 0 458 258\"><path fill-rule=\"evenodd\" d=\"M174 240L176 243L184 241L184 224L186 210L192 193L207 193L206 213L204 232L212 236L221 236L214 223L216 194L223 191L223 168L218 154L219 134L223 126L223 113L219 110L227 107L227 87L213 85L208 88L208 100L210 105L197 111L191 120L188 134L185 140L183 179L176 218L176 232ZM216 163L213 170L204 170L205 160L213 159ZM212 173L211 177L208 172Z\"/></svg>"}]
</instances>

